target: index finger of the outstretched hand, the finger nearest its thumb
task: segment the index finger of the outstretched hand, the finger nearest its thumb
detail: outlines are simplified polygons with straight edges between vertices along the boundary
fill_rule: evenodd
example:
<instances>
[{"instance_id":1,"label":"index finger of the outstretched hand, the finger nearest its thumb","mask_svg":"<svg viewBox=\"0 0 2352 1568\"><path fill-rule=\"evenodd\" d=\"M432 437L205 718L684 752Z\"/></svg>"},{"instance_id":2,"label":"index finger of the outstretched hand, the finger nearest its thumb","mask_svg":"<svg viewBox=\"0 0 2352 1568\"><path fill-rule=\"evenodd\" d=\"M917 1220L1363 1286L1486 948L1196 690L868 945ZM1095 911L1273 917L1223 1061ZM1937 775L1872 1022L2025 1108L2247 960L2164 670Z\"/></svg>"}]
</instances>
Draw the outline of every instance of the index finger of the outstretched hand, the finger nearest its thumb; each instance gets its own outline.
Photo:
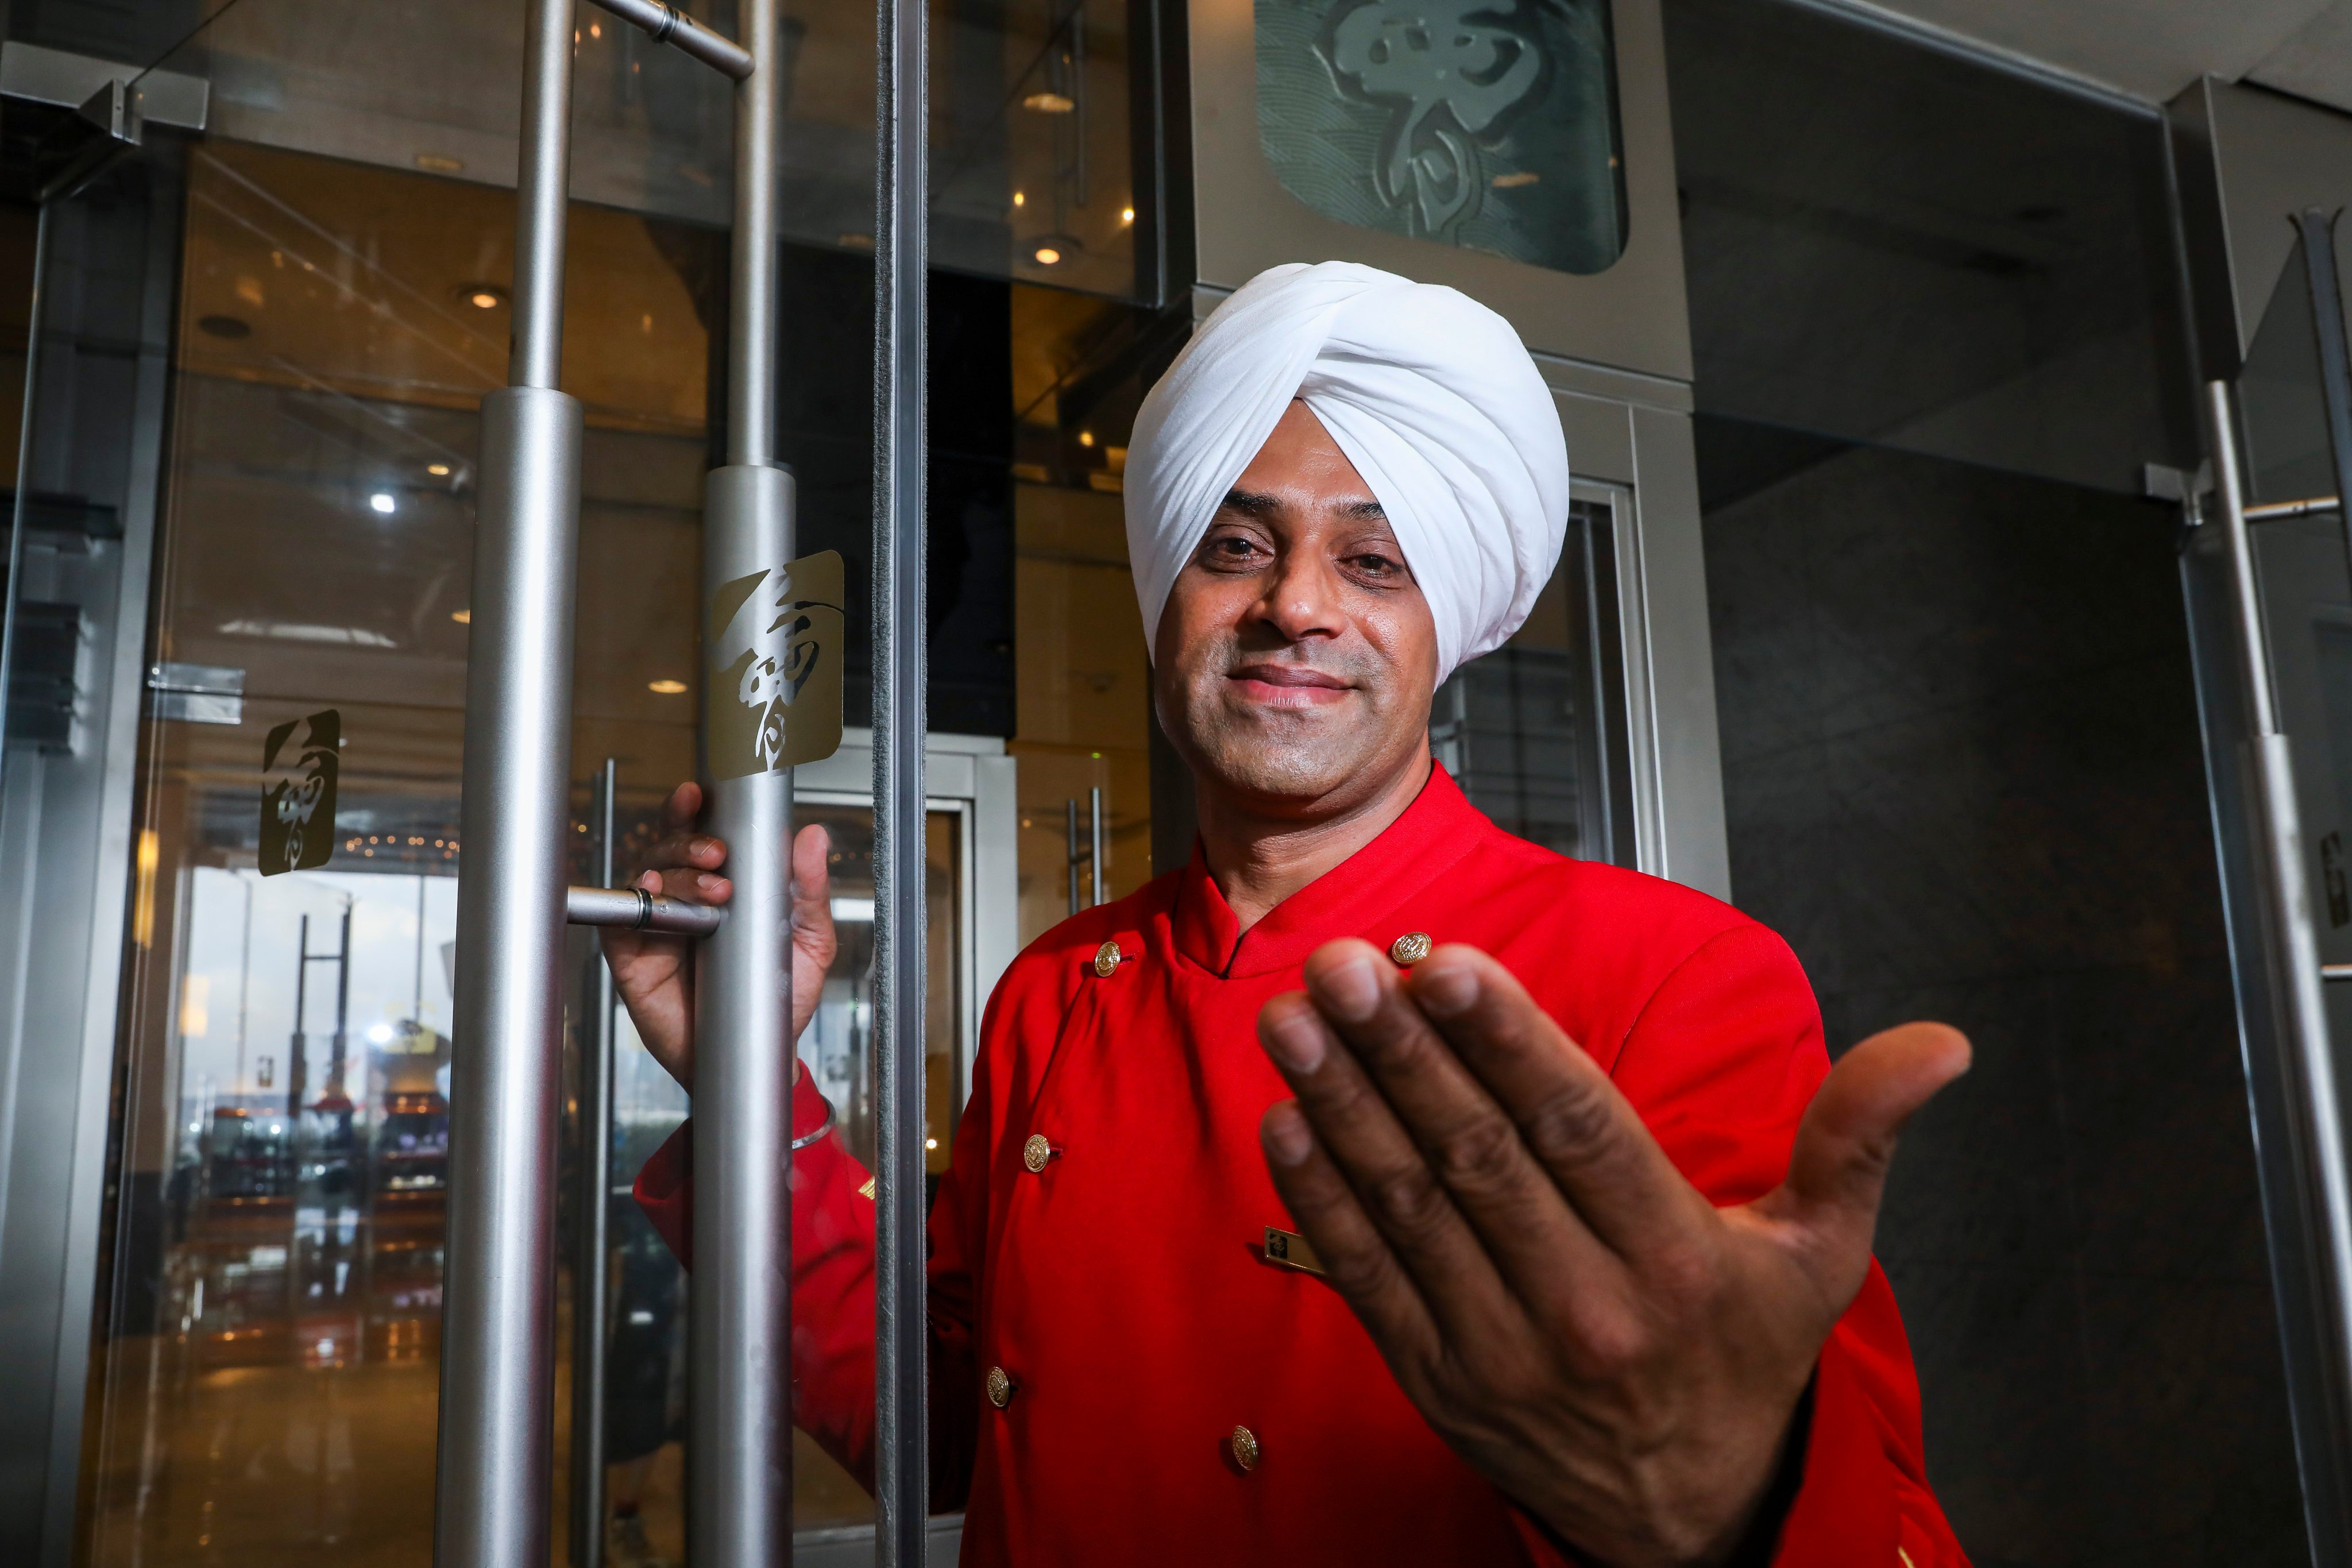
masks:
<instances>
[{"instance_id":1,"label":"index finger of the outstretched hand, the finger nearest its thumb","mask_svg":"<svg viewBox=\"0 0 2352 1568\"><path fill-rule=\"evenodd\" d=\"M1675 1241L1705 1208L1599 1063L1496 959L1439 947L1414 966L1406 990L1611 1251L1639 1255Z\"/></svg>"}]
</instances>

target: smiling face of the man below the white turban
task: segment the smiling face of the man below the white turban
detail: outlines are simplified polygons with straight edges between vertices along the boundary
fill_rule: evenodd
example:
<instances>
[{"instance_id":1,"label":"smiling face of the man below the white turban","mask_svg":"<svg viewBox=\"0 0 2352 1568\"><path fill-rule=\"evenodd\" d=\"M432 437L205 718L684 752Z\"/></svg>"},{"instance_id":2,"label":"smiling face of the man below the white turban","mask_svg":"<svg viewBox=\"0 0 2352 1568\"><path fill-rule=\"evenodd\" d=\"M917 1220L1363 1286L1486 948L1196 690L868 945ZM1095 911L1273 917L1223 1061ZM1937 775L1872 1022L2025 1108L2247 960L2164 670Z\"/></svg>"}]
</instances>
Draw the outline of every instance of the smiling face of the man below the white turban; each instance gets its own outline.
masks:
<instances>
[{"instance_id":1,"label":"smiling face of the man below the white turban","mask_svg":"<svg viewBox=\"0 0 2352 1568\"><path fill-rule=\"evenodd\" d=\"M1160 724L1204 790L1322 816L1428 750L1437 625L1371 487L1291 402L1176 574Z\"/></svg>"}]
</instances>

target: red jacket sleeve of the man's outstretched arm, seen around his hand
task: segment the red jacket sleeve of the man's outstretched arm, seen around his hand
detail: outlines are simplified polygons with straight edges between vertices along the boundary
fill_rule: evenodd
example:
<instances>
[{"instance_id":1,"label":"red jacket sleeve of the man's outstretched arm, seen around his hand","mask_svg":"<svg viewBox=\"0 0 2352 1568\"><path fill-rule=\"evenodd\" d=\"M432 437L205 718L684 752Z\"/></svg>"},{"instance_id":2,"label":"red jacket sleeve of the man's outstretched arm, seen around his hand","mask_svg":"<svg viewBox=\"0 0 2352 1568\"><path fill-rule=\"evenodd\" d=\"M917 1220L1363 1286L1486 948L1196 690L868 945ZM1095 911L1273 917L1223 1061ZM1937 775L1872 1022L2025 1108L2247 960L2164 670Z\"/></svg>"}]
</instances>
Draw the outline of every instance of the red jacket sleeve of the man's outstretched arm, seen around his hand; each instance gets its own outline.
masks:
<instances>
[{"instance_id":1,"label":"red jacket sleeve of the man's outstretched arm, seen around his hand","mask_svg":"<svg viewBox=\"0 0 2352 1568\"><path fill-rule=\"evenodd\" d=\"M1828 1074L1813 987L1788 943L1757 924L1684 959L1611 1065L1675 1166L1726 1206L1780 1185ZM1877 1262L1820 1349L1802 1465L1771 1559L1780 1568L1966 1566L1926 1483L1919 1375ZM1536 1561L1564 1559L1543 1549Z\"/></svg>"}]
</instances>

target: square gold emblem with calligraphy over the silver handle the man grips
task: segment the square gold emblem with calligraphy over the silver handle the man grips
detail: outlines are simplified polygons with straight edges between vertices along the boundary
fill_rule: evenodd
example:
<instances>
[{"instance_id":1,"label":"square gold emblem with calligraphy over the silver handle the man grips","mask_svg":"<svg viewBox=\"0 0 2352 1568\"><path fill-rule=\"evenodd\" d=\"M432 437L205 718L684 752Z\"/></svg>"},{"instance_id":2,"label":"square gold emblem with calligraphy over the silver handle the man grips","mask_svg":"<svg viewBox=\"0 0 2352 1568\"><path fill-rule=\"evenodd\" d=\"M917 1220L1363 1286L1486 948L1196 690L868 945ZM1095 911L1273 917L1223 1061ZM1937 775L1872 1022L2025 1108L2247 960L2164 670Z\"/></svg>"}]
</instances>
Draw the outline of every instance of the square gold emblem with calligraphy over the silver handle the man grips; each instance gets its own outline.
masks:
<instances>
[{"instance_id":1,"label":"square gold emblem with calligraphy over the silver handle the man grips","mask_svg":"<svg viewBox=\"0 0 2352 1568\"><path fill-rule=\"evenodd\" d=\"M722 583L710 597L710 776L748 778L842 748L842 552Z\"/></svg>"}]
</instances>

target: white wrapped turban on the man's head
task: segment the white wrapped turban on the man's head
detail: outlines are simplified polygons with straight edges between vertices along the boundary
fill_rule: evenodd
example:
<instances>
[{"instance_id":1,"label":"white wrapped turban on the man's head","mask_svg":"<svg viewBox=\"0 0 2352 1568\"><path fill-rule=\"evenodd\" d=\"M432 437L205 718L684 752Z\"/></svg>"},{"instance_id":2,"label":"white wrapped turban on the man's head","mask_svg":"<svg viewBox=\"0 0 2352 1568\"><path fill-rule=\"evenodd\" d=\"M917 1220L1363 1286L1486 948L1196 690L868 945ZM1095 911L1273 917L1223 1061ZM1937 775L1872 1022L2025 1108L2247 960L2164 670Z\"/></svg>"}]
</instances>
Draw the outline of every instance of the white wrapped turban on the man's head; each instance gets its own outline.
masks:
<instances>
[{"instance_id":1,"label":"white wrapped turban on the man's head","mask_svg":"<svg viewBox=\"0 0 2352 1568\"><path fill-rule=\"evenodd\" d=\"M1437 618L1437 679L1519 630L1569 527L1569 447L1543 374L1470 296L1322 261L1251 277L1136 414L1127 557L1145 639L1291 397L1388 512Z\"/></svg>"}]
</instances>

